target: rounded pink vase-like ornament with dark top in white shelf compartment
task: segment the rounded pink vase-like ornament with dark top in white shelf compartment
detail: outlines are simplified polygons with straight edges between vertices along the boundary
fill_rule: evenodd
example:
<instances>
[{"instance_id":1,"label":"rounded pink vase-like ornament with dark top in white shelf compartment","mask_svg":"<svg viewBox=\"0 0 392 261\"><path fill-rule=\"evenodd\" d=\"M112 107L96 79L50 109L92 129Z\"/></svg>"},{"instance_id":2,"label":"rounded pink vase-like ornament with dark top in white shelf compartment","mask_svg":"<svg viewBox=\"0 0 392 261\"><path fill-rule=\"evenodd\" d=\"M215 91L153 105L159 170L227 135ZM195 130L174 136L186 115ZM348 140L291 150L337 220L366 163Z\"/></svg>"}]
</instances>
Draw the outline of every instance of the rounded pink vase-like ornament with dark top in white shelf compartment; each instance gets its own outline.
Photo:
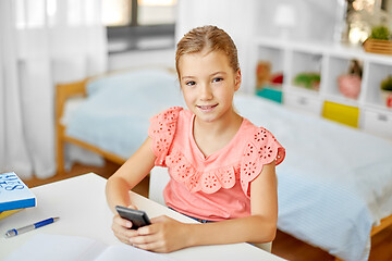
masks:
<instances>
[{"instance_id":1,"label":"rounded pink vase-like ornament with dark top in white shelf compartment","mask_svg":"<svg viewBox=\"0 0 392 261\"><path fill-rule=\"evenodd\" d=\"M338 77L340 92L351 99L357 99L360 92L362 65L358 60L352 60L348 74L342 74Z\"/></svg>"}]
</instances>

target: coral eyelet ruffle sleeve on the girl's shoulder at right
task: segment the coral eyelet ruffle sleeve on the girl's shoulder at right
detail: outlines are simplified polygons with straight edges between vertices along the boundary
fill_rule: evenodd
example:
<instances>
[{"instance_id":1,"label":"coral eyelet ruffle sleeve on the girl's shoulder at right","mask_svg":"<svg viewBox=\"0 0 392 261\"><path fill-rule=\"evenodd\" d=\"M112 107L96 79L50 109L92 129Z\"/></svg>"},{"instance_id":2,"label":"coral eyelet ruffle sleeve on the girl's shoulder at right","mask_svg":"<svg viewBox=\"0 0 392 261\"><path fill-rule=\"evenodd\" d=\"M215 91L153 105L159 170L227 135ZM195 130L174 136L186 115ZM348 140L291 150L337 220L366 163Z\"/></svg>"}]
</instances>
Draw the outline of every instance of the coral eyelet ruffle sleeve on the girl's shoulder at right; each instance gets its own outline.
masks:
<instances>
[{"instance_id":1,"label":"coral eyelet ruffle sleeve on the girl's shoulder at right","mask_svg":"<svg viewBox=\"0 0 392 261\"><path fill-rule=\"evenodd\" d=\"M264 127L258 127L247 142L241 161L241 187L247 197L250 197L249 184L262 170L262 166L275 161L279 165L285 156L284 148Z\"/></svg>"}]
</instances>

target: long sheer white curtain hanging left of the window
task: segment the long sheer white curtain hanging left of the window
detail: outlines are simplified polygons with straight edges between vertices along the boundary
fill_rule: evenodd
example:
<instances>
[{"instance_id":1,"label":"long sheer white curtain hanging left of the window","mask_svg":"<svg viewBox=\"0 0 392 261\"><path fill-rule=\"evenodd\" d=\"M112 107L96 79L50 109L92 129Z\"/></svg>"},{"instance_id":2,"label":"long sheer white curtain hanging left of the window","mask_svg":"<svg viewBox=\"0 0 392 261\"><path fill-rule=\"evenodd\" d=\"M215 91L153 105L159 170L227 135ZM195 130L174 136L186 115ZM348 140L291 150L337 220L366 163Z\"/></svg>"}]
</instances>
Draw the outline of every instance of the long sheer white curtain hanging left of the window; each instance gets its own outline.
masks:
<instances>
[{"instance_id":1,"label":"long sheer white curtain hanging left of the window","mask_svg":"<svg viewBox=\"0 0 392 261\"><path fill-rule=\"evenodd\" d=\"M56 174L54 85L107 70L100 0L0 1L0 172Z\"/></svg>"}]
</instances>

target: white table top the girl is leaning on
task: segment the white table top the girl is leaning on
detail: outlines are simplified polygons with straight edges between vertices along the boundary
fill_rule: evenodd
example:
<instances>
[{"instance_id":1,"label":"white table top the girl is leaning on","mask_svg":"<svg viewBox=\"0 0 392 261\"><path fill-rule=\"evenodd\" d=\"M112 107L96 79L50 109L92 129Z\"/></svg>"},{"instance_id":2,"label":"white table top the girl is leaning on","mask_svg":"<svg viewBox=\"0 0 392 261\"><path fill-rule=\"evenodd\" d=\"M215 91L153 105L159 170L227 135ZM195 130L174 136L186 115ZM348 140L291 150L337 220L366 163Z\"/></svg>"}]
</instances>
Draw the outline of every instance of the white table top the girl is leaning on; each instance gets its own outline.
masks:
<instances>
[{"instance_id":1,"label":"white table top the girl is leaning on","mask_svg":"<svg viewBox=\"0 0 392 261\"><path fill-rule=\"evenodd\" d=\"M112 212L105 196L106 179L89 173L33 188L37 207L23 210L0 221L0 260L15 251L36 234L82 236L100 240L107 245L120 245L112 234ZM194 222L175 211L135 192L130 192L132 201L145 210L150 217L169 215L182 222ZM5 239L8 229L17 228L51 216L60 221L38 229ZM164 253L173 260L283 260L249 244L201 246Z\"/></svg>"}]
</instances>

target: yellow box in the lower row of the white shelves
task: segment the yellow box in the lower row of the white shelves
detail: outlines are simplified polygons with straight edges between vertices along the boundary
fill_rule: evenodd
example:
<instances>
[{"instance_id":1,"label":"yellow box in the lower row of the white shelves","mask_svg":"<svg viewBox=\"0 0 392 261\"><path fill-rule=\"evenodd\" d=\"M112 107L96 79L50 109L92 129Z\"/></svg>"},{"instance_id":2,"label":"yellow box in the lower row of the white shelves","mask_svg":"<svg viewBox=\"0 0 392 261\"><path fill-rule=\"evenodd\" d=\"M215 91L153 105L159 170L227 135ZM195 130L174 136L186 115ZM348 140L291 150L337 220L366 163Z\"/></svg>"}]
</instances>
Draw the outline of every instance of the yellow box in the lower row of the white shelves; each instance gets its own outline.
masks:
<instances>
[{"instance_id":1,"label":"yellow box in the lower row of the white shelves","mask_svg":"<svg viewBox=\"0 0 392 261\"><path fill-rule=\"evenodd\" d=\"M344 105L331 101L324 101L322 116L346 124L352 127L358 127L359 109L357 107Z\"/></svg>"}]
</instances>

